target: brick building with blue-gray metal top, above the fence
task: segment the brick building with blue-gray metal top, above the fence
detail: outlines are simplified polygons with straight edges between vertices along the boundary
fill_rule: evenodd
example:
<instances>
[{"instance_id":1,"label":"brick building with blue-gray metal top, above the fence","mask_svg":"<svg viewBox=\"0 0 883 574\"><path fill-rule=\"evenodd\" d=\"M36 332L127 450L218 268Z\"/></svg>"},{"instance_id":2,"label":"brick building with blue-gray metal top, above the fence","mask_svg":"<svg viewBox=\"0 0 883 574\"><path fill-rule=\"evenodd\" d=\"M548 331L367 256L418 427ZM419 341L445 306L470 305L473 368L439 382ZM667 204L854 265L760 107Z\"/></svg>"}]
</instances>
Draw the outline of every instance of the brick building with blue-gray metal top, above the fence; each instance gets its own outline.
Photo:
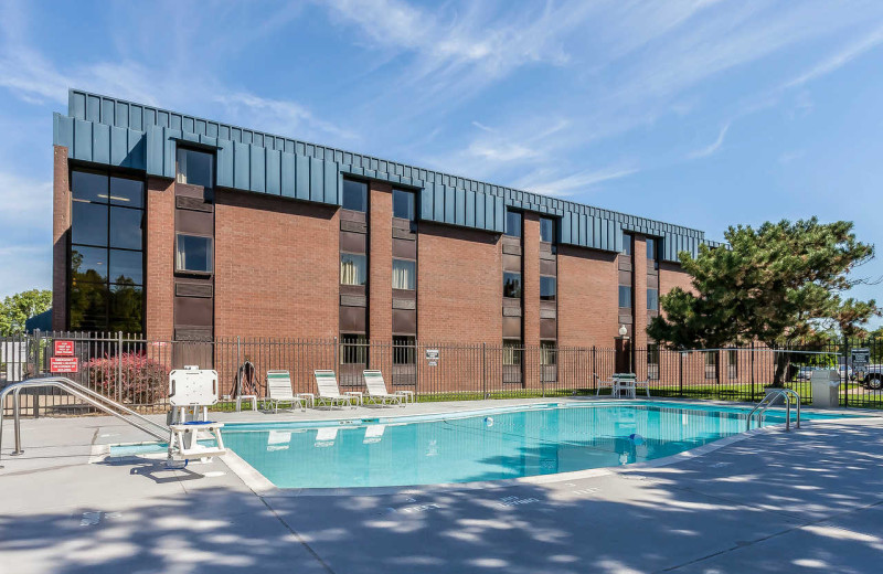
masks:
<instances>
[{"instance_id":1,"label":"brick building with blue-gray metal top, above the fence","mask_svg":"<svg viewBox=\"0 0 883 574\"><path fill-rule=\"evenodd\" d=\"M703 232L140 104L54 116L53 328L637 347Z\"/></svg>"}]
</instances>

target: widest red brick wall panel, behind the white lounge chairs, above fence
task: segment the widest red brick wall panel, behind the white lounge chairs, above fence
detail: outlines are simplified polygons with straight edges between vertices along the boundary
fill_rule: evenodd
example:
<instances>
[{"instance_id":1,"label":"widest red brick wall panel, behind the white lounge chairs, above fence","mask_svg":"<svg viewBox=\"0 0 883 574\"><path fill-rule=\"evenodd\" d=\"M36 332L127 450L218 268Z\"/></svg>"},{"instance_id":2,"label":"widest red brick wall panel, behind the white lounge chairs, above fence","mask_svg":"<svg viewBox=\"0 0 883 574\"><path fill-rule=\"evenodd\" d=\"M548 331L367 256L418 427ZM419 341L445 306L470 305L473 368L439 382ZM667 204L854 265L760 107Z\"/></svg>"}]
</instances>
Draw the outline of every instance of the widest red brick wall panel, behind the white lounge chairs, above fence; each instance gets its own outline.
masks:
<instances>
[{"instance_id":1,"label":"widest red brick wall panel, behind the white lounge chairs, above fence","mask_svg":"<svg viewBox=\"0 0 883 574\"><path fill-rule=\"evenodd\" d=\"M337 336L339 242L334 206L216 191L215 336Z\"/></svg>"}]
</instances>

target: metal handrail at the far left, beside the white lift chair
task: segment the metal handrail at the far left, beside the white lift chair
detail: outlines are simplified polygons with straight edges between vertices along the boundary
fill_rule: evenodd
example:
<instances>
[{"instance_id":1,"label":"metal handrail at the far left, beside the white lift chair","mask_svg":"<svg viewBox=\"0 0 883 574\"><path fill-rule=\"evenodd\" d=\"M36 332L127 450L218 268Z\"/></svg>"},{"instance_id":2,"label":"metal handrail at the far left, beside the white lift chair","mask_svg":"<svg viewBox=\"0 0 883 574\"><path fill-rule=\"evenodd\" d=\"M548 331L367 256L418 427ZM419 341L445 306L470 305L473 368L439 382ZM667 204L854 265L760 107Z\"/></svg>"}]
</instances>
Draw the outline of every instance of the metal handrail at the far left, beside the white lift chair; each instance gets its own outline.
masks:
<instances>
[{"instance_id":1,"label":"metal handrail at the far left, beside the white lift chair","mask_svg":"<svg viewBox=\"0 0 883 574\"><path fill-rule=\"evenodd\" d=\"M99 411L104 411L105 413L116 416L120 421L125 421L131 426L143 431L153 438L159 440L166 440L169 438L168 427L150 421L146 416L136 413L131 408L121 405L116 401L104 396L103 394L96 393L92 389L74 382L66 376L49 376L43 379L28 379L26 381L13 383L0 391L0 456L2 456L1 454L3 445L3 404L6 397L12 393L12 408L15 431L15 449L12 451L12 455L21 455L24 453L24 450L21 448L21 401L19 395L23 389L34 389L41 386L54 386L56 389L61 389L62 391L65 391L66 393L85 401ZM131 418L127 418L124 416L124 413L141 421L141 423L132 421Z\"/></svg>"}]
</instances>

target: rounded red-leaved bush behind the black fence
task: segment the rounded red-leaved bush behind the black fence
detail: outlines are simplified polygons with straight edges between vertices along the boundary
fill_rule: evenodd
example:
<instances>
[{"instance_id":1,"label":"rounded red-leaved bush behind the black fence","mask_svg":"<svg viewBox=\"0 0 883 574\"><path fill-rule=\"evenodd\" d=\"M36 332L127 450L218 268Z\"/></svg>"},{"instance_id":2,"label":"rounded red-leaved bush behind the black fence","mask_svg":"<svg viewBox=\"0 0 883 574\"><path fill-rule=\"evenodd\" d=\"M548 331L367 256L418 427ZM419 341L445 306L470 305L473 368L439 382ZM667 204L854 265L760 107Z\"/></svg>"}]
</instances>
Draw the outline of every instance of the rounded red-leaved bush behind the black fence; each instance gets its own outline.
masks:
<instances>
[{"instance_id":1,"label":"rounded red-leaved bush behind the black fence","mask_svg":"<svg viewBox=\"0 0 883 574\"><path fill-rule=\"evenodd\" d=\"M138 353L92 359L85 370L92 389L129 404L155 404L169 385L166 365Z\"/></svg>"}]
</instances>

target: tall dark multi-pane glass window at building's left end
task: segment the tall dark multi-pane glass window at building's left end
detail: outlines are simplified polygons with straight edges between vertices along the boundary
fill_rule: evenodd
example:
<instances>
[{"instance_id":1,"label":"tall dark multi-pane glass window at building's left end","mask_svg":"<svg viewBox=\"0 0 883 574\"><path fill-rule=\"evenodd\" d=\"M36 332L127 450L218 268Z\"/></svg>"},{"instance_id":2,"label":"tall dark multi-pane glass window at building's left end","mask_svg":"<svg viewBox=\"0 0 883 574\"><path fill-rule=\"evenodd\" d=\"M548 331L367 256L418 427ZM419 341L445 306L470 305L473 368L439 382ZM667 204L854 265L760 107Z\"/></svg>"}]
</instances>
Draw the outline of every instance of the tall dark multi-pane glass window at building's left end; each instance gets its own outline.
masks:
<instances>
[{"instance_id":1,"label":"tall dark multi-pane glass window at building's left end","mask_svg":"<svg viewBox=\"0 0 883 574\"><path fill-rule=\"evenodd\" d=\"M143 331L143 181L71 172L72 330Z\"/></svg>"}]
</instances>

